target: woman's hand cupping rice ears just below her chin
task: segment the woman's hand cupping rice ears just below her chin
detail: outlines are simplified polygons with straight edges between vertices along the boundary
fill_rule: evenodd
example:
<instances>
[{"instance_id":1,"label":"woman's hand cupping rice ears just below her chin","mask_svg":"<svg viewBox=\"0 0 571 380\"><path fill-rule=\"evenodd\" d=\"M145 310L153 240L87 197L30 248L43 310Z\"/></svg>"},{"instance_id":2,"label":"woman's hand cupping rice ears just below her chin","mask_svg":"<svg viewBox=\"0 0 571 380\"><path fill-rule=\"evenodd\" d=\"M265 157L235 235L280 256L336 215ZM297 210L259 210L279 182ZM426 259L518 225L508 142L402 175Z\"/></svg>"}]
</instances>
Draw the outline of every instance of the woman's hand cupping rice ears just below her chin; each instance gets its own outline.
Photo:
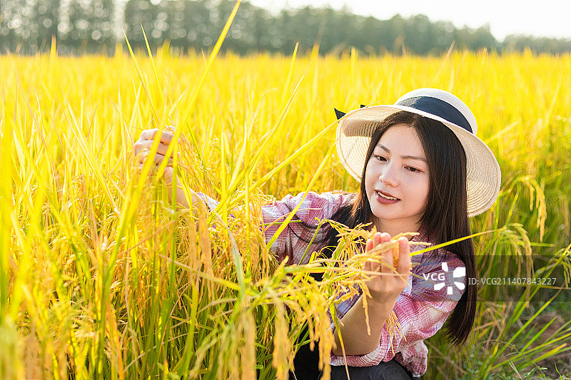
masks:
<instances>
[{"instance_id":1,"label":"woman's hand cupping rice ears just below her chin","mask_svg":"<svg viewBox=\"0 0 571 380\"><path fill-rule=\"evenodd\" d=\"M390 235L387 232L375 232L375 235L365 245L365 252L370 252L379 244L389 242ZM380 253L382 264L377 262L365 262L363 269L371 272L378 272L365 284L371 295L369 302L380 304L395 304L398 295L403 292L408 284L408 274L410 272L410 248L406 237L399 237L398 245L392 250ZM393 254L398 257L398 265L393 268ZM396 269L396 272L395 272ZM391 307L392 309L392 307Z\"/></svg>"}]
</instances>

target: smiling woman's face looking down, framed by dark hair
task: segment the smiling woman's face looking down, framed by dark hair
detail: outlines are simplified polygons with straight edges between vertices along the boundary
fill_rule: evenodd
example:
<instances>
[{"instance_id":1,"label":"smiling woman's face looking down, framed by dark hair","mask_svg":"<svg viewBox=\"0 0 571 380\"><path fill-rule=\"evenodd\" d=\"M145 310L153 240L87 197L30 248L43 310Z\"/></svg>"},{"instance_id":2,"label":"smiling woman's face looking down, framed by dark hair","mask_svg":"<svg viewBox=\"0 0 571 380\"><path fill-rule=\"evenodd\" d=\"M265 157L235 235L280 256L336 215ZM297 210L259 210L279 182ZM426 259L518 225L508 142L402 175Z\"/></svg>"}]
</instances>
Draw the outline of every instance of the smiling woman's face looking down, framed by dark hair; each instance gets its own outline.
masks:
<instances>
[{"instance_id":1,"label":"smiling woman's face looking down, framed by dark hair","mask_svg":"<svg viewBox=\"0 0 571 380\"><path fill-rule=\"evenodd\" d=\"M428 162L414 128L393 125L380 137L365 171L365 190L378 231L420 229L428 200Z\"/></svg>"}]
</instances>

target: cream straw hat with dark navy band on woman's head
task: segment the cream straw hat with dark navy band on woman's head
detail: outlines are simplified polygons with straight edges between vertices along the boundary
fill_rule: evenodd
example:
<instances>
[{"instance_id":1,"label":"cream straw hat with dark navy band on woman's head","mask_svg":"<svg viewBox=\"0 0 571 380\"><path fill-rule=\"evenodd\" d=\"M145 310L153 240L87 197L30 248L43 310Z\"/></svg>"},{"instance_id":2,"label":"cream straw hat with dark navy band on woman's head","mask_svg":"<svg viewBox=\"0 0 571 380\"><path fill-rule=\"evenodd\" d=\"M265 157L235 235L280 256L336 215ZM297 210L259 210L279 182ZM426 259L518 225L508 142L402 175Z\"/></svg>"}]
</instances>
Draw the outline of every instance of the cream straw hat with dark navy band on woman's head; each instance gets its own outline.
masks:
<instances>
[{"instance_id":1,"label":"cream straw hat with dark navy band on woman's head","mask_svg":"<svg viewBox=\"0 0 571 380\"><path fill-rule=\"evenodd\" d=\"M490 148L476 137L476 119L463 101L436 88L419 88L393 106L363 107L347 114L337 110L337 153L350 175L360 181L373 131L380 121L398 111L438 120L458 137L467 159L468 216L492 207L500 192L501 172Z\"/></svg>"}]
</instances>

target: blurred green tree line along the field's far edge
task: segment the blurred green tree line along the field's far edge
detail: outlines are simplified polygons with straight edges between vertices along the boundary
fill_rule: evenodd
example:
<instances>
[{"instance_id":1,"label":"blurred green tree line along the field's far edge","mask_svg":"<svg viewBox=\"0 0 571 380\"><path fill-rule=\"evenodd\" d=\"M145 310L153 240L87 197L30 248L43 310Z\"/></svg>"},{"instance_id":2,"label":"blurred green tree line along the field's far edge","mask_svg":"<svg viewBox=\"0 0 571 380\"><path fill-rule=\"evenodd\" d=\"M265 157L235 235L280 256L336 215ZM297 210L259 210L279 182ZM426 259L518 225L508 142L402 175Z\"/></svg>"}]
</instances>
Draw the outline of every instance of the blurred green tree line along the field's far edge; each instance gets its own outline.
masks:
<instances>
[{"instance_id":1,"label":"blurred green tree line along the field's far edge","mask_svg":"<svg viewBox=\"0 0 571 380\"><path fill-rule=\"evenodd\" d=\"M182 53L208 50L228 19L229 0L0 0L0 51L49 51L53 38L59 53L113 53L116 43L151 48L169 41ZM141 29L142 26L142 29ZM365 53L438 54L450 45L469 50L565 53L571 39L508 36L498 42L488 26L457 29L426 16L389 20L357 16L330 8L285 9L270 14L241 4L223 51L290 54L319 44L320 53L340 53L354 46Z\"/></svg>"}]
</instances>

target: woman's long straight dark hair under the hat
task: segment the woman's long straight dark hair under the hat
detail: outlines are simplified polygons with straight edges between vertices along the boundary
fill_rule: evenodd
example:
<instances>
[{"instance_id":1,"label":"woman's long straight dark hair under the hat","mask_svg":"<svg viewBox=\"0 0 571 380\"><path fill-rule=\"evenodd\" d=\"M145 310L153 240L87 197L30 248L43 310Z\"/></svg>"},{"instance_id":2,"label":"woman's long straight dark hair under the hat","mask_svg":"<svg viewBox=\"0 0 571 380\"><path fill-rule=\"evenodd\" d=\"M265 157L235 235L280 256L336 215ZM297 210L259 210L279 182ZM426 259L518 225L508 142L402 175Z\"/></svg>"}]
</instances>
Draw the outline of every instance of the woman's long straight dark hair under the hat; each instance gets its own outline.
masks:
<instances>
[{"instance_id":1,"label":"woman's long straight dark hair under the hat","mask_svg":"<svg viewBox=\"0 0 571 380\"><path fill-rule=\"evenodd\" d=\"M460 141L443 123L406 111L394 113L378 124L370 140L358 195L353 202L341 207L330 219L350 228L373 221L373 212L365 190L365 170L380 137L388 128L397 124L410 125L415 129L428 160L430 181L428 200L419 222L423 225L423 230L427 232L430 241L439 244L470 235L466 155ZM322 247L337 246L339 239L337 234L338 232L330 227L321 240ZM449 245L446 250L464 262L466 278L475 277L474 247L471 239ZM433 251L430 255L436 257L438 252ZM443 257L437 259L443 260ZM452 344L463 344L468 339L474 324L476 296L477 287L468 284L446 321L445 332Z\"/></svg>"}]
</instances>

